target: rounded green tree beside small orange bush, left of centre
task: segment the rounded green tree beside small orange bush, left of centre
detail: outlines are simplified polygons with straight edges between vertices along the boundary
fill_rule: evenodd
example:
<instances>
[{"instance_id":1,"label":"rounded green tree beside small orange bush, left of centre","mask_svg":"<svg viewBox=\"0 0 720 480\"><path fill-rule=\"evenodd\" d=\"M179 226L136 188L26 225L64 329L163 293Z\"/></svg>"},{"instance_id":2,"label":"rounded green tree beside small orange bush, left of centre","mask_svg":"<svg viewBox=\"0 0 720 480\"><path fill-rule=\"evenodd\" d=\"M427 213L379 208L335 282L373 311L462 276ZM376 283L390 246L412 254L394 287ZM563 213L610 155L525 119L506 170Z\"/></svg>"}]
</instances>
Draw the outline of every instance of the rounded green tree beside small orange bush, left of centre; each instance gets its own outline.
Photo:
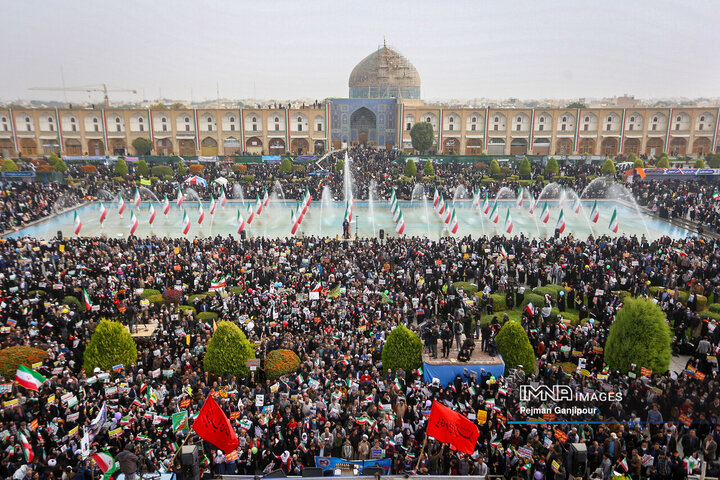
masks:
<instances>
[{"instance_id":1,"label":"rounded green tree beside small orange bush, left of centre","mask_svg":"<svg viewBox=\"0 0 720 480\"><path fill-rule=\"evenodd\" d=\"M248 358L255 358L255 347L240 327L226 320L219 322L207 346L203 361L205 371L246 377L250 375L250 369L245 365Z\"/></svg>"}]
</instances>

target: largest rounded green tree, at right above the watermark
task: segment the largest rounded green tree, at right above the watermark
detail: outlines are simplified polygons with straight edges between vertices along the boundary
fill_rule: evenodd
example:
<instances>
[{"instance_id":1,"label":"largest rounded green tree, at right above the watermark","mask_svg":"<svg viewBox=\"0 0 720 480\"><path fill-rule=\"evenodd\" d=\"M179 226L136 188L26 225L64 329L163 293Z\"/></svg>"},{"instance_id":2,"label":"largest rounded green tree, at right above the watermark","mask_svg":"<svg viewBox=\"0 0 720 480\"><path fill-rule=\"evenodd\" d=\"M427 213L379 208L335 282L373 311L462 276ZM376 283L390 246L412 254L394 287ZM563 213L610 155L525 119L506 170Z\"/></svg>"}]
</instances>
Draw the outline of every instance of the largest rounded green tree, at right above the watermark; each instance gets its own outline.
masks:
<instances>
[{"instance_id":1,"label":"largest rounded green tree, at right above the watermark","mask_svg":"<svg viewBox=\"0 0 720 480\"><path fill-rule=\"evenodd\" d=\"M605 363L623 375L632 364L663 374L670 366L670 343L670 327L660 306L645 298L626 298L610 326Z\"/></svg>"}]
</instances>

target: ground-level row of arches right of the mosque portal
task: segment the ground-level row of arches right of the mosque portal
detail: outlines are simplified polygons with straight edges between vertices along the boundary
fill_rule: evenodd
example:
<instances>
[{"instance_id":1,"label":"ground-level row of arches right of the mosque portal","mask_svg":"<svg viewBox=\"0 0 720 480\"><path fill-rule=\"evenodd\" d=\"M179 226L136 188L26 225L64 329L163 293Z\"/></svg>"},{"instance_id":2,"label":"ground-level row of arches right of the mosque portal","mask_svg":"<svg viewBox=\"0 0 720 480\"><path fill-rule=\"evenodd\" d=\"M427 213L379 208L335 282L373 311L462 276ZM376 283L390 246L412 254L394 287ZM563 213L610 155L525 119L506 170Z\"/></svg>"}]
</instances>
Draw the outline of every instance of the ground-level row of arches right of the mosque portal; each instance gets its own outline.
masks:
<instances>
[{"instance_id":1,"label":"ground-level row of arches right of the mosque portal","mask_svg":"<svg viewBox=\"0 0 720 480\"><path fill-rule=\"evenodd\" d=\"M667 150L672 155L706 155L712 150L712 141L708 137L698 137L688 145L688 139L684 137L672 137ZM510 142L508 150L504 138L491 138L487 145L487 153L490 155L570 155L574 153L573 140L571 138L559 138L551 151L549 138L535 138L533 140L532 152L529 150L528 140L525 138L514 138ZM598 150L599 147L599 150ZM485 145L482 138L467 139L465 154L472 155L484 151ZM622 145L622 153L628 155L657 155L665 150L665 141L659 137L649 138L643 150L642 139L626 138ZM443 140L442 152L445 155L461 153L461 141L459 138L445 138ZM606 155L615 156L620 152L620 139L615 137L604 138L598 145L594 138L581 138L578 141L577 153L583 155Z\"/></svg>"}]
</instances>

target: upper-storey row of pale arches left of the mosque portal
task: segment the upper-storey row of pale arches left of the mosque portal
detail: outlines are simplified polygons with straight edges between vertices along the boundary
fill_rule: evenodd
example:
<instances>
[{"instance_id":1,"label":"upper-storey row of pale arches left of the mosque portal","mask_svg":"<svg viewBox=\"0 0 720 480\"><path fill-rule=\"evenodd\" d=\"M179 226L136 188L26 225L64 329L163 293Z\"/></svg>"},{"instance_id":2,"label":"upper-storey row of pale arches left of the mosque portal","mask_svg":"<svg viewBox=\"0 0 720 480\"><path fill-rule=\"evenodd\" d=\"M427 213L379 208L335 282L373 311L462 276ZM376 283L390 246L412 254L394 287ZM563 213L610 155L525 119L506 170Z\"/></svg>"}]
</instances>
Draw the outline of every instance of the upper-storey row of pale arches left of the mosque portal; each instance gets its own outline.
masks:
<instances>
[{"instance_id":1,"label":"upper-storey row of pale arches left of the mosque portal","mask_svg":"<svg viewBox=\"0 0 720 480\"><path fill-rule=\"evenodd\" d=\"M285 131L285 114L271 114L267 117L266 122L258 114L250 113L245 115L245 131L246 132L284 132ZM42 132L56 132L58 126L56 124L55 115L53 113L44 113L39 115L39 130ZM221 127L224 132L240 131L240 116L235 113L226 113L221 118ZM63 113L60 116L60 123L63 132L80 132L80 118L74 113ZM263 125L265 123L265 125ZM97 113L88 113L82 119L85 132L102 132L103 122L101 116ZM106 117L108 132L125 132L125 119L117 113L111 113ZM18 132L34 132L36 130L35 120L32 115L26 112L18 112L15 114L15 129ZM202 132L215 132L218 130L217 118L211 113L203 113L198 117L198 128ZM12 130L10 118L8 115L0 114L0 132L9 132ZM134 113L130 116L131 132L149 132L150 125L148 116L145 113ZM172 132L173 122L170 116L162 112L153 113L153 131L155 132ZM175 131L177 132L194 132L195 119L192 115L183 113L175 117ZM324 132L325 117L316 115L312 124L307 115L303 113L294 113L290 117L291 132Z\"/></svg>"}]
</instances>

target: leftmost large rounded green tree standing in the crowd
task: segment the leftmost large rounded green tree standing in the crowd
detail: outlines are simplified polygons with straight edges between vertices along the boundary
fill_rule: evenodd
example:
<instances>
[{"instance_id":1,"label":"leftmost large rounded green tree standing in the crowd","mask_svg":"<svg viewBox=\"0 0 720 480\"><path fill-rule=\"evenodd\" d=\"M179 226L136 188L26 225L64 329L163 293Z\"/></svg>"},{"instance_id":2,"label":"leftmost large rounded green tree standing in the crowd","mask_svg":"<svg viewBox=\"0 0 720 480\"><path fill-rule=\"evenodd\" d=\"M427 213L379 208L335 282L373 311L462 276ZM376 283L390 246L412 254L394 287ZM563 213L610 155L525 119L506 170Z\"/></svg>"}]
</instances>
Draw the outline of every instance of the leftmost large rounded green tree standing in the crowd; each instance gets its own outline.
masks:
<instances>
[{"instance_id":1,"label":"leftmost large rounded green tree standing in the crowd","mask_svg":"<svg viewBox=\"0 0 720 480\"><path fill-rule=\"evenodd\" d=\"M100 320L83 354L83 367L90 373L96 367L108 371L115 365L129 367L137 362L137 346L120 322Z\"/></svg>"}]
</instances>

